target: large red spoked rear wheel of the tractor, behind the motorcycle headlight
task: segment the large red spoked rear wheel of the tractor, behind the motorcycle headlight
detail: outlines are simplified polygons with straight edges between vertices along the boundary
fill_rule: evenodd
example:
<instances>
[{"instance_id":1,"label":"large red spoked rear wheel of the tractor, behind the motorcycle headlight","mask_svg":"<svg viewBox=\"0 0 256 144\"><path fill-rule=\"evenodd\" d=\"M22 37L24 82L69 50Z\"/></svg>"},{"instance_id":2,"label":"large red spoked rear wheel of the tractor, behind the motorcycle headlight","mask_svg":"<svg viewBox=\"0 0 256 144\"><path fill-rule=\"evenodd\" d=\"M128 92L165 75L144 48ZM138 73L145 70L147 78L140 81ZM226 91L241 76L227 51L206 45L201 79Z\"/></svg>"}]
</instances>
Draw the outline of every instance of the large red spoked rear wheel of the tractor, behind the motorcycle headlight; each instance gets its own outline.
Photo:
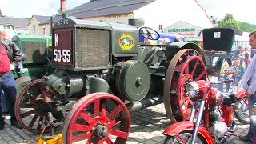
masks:
<instances>
[{"instance_id":1,"label":"large red spoked rear wheel of the tractor, behind the motorcycle headlight","mask_svg":"<svg viewBox=\"0 0 256 144\"><path fill-rule=\"evenodd\" d=\"M170 61L164 84L164 104L172 122L190 119L193 102L186 94L186 84L198 80L207 80L202 56L196 50L178 51Z\"/></svg>"}]
</instances>

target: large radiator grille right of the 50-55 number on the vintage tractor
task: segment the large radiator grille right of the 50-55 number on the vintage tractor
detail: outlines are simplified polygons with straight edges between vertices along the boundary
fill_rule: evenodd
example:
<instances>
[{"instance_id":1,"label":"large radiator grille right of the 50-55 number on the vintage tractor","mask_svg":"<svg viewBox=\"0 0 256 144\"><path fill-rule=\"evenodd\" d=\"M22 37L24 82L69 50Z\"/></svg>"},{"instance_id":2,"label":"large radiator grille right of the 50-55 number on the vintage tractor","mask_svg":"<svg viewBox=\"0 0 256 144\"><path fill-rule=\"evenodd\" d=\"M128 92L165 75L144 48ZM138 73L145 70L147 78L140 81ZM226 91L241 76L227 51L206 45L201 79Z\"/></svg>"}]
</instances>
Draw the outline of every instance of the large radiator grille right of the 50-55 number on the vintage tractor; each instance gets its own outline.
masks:
<instances>
[{"instance_id":1,"label":"large radiator grille right of the 50-55 number on the vintage tractor","mask_svg":"<svg viewBox=\"0 0 256 144\"><path fill-rule=\"evenodd\" d=\"M110 60L110 31L77 29L75 46L76 67L106 66Z\"/></svg>"}]
</instances>

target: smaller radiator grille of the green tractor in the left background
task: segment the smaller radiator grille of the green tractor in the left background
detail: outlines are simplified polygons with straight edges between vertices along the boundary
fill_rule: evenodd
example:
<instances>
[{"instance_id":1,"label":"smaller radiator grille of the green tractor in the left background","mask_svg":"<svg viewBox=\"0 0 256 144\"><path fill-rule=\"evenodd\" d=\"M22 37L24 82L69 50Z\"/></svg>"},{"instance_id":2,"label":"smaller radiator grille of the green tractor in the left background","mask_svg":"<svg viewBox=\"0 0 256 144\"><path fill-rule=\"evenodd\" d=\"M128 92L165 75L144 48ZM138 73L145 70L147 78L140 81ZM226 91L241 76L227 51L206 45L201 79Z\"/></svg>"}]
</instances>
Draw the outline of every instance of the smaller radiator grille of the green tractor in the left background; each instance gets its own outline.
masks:
<instances>
[{"instance_id":1,"label":"smaller radiator grille of the green tractor in the left background","mask_svg":"<svg viewBox=\"0 0 256 144\"><path fill-rule=\"evenodd\" d=\"M22 42L22 53L26 63L46 62L46 42Z\"/></svg>"}]
</instances>

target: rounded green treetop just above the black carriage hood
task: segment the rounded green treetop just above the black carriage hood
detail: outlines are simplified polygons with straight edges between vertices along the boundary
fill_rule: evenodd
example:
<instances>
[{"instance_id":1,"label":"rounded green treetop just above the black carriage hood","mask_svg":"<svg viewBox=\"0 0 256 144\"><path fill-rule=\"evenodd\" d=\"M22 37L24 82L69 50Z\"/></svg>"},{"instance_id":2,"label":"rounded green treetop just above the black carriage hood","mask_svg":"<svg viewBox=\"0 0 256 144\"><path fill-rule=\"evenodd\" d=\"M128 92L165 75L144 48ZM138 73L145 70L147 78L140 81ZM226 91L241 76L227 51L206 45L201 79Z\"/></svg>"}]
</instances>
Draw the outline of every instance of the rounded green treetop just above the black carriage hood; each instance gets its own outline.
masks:
<instances>
[{"instance_id":1,"label":"rounded green treetop just above the black carriage hood","mask_svg":"<svg viewBox=\"0 0 256 144\"><path fill-rule=\"evenodd\" d=\"M219 22L218 27L232 27L241 30L241 22L235 20L232 14L226 14Z\"/></svg>"}]
</instances>

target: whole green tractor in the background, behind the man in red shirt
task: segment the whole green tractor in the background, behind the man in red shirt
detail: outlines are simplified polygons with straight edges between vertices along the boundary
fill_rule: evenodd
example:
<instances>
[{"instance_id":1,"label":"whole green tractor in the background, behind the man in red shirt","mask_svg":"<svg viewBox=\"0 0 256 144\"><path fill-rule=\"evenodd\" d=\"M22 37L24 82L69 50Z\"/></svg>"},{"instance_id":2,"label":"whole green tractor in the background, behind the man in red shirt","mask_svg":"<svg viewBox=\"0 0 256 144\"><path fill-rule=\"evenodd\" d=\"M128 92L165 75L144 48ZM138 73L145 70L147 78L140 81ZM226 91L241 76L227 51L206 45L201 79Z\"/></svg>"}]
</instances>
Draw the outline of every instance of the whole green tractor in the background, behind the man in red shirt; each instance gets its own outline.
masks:
<instances>
[{"instance_id":1,"label":"whole green tractor in the background, behind the man in red shirt","mask_svg":"<svg viewBox=\"0 0 256 144\"><path fill-rule=\"evenodd\" d=\"M22 50L22 62L14 70L17 91L27 83L42 78L44 75L51 74L51 36L42 35L15 35L12 41ZM17 94L17 95L18 95ZM5 97L2 97L2 110L9 110Z\"/></svg>"}]
</instances>

